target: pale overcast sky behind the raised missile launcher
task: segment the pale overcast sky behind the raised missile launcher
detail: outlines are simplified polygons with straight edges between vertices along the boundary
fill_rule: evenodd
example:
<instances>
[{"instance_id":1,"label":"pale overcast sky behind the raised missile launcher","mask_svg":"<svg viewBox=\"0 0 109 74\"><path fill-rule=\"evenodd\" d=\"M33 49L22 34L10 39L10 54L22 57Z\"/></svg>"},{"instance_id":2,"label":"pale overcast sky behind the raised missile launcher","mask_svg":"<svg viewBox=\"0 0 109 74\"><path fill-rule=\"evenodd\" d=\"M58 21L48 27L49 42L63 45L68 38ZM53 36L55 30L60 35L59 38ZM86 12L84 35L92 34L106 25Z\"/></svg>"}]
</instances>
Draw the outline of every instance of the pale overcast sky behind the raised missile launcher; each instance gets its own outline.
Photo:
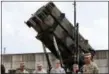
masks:
<instances>
[{"instance_id":1,"label":"pale overcast sky behind the raised missile launcher","mask_svg":"<svg viewBox=\"0 0 109 74\"><path fill-rule=\"evenodd\" d=\"M4 2L2 8L3 48L6 53L43 52L37 33L24 21L47 2ZM73 24L73 2L54 2ZM95 50L108 49L108 3L77 2L79 31Z\"/></svg>"}]
</instances>

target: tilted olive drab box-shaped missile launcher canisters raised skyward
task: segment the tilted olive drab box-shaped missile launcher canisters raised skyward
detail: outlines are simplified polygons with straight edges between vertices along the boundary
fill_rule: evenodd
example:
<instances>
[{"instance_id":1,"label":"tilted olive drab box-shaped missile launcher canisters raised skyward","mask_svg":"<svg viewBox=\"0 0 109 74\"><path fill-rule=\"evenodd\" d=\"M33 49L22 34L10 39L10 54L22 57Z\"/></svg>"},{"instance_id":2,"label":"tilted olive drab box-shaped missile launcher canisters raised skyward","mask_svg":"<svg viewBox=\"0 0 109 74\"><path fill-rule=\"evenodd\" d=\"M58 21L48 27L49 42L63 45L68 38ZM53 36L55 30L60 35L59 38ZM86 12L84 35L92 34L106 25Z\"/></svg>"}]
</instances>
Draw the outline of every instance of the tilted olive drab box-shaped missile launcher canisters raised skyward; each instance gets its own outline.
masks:
<instances>
[{"instance_id":1,"label":"tilted olive drab box-shaped missile launcher canisters raised skyward","mask_svg":"<svg viewBox=\"0 0 109 74\"><path fill-rule=\"evenodd\" d=\"M74 47L74 26L67 20L52 2L38 9L26 22L29 27L38 32L36 36L45 46L57 57L53 43L53 36L56 37L57 45L62 55L62 59L68 59L75 53ZM79 50L81 52L94 52L92 47L79 34Z\"/></svg>"}]
</instances>

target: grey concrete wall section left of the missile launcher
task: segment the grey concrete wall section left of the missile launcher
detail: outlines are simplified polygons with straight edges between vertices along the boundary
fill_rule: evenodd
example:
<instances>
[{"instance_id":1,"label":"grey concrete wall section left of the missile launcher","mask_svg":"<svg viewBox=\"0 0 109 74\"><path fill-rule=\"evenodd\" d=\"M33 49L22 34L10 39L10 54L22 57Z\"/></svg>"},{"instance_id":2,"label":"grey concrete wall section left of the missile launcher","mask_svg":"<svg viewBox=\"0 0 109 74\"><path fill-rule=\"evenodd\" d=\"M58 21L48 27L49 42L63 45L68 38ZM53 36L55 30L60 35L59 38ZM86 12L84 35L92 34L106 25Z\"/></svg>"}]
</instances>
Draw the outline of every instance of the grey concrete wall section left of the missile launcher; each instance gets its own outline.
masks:
<instances>
[{"instance_id":1,"label":"grey concrete wall section left of the missile launcher","mask_svg":"<svg viewBox=\"0 0 109 74\"><path fill-rule=\"evenodd\" d=\"M51 65L54 65L54 61L56 58L49 54L49 59L51 61ZM25 63L25 67L31 70L34 70L36 68L37 63L42 63L43 67L47 69L47 61L45 54L43 53L37 53L37 54L5 54L3 55L2 62L6 67L6 72L10 69L16 69L19 68L20 62Z\"/></svg>"}]
</instances>

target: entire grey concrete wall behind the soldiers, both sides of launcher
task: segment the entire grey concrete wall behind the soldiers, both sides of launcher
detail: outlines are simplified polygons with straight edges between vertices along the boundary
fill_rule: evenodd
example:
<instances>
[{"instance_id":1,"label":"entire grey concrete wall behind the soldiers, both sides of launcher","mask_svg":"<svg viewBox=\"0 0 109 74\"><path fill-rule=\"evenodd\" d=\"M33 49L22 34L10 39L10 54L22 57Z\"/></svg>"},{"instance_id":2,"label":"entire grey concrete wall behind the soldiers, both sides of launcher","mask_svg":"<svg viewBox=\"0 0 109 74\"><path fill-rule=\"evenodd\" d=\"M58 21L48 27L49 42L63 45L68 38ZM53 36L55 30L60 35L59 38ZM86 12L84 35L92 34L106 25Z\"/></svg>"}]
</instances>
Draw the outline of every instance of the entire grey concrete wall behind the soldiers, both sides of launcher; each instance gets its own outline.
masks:
<instances>
[{"instance_id":1,"label":"entire grey concrete wall behind the soldiers, both sides of launcher","mask_svg":"<svg viewBox=\"0 0 109 74\"><path fill-rule=\"evenodd\" d=\"M53 67L56 58L49 53L49 59ZM47 69L48 66L45 54L43 53L3 55L2 61L7 72L9 69L18 68L21 61L25 63L26 68L31 70L34 70L39 62L43 64L45 69ZM107 51L97 51L94 61L97 63L100 73L108 73L109 64Z\"/></svg>"}]
</instances>

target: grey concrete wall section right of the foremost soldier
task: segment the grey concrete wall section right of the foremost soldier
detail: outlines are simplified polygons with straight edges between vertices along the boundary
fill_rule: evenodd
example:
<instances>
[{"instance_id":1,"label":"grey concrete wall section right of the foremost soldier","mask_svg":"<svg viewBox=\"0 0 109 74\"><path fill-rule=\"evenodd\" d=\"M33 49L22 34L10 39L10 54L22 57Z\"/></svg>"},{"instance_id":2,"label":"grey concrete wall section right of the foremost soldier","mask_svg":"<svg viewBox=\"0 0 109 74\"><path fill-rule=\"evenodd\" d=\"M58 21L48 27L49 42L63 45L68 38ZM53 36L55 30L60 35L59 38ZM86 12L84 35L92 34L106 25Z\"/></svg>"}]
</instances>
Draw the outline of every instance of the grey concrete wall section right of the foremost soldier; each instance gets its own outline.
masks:
<instances>
[{"instance_id":1,"label":"grey concrete wall section right of the foremost soldier","mask_svg":"<svg viewBox=\"0 0 109 74\"><path fill-rule=\"evenodd\" d=\"M102 51L97 51L96 56L95 56L95 62L98 65L99 72L100 73L109 73L109 63L108 59L109 58L109 51L107 50L102 50Z\"/></svg>"}]
</instances>

